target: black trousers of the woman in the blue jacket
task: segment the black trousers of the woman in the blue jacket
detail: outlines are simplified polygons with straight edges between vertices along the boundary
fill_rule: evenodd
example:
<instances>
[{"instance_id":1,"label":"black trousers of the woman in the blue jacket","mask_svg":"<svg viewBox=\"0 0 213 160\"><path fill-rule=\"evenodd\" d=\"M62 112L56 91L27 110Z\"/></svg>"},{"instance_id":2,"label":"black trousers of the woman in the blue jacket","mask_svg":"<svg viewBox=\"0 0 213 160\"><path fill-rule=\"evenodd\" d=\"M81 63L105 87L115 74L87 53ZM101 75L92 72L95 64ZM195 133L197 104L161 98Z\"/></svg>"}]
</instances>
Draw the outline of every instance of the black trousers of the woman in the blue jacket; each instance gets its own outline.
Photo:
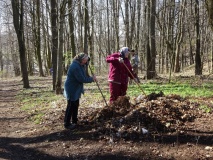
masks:
<instances>
[{"instance_id":1,"label":"black trousers of the woman in the blue jacket","mask_svg":"<svg viewBox=\"0 0 213 160\"><path fill-rule=\"evenodd\" d=\"M67 101L67 109L65 112L64 117L64 126L69 126L71 124L71 118L72 123L77 124L78 122L78 106L79 106L79 99L76 101Z\"/></svg>"}]
</instances>

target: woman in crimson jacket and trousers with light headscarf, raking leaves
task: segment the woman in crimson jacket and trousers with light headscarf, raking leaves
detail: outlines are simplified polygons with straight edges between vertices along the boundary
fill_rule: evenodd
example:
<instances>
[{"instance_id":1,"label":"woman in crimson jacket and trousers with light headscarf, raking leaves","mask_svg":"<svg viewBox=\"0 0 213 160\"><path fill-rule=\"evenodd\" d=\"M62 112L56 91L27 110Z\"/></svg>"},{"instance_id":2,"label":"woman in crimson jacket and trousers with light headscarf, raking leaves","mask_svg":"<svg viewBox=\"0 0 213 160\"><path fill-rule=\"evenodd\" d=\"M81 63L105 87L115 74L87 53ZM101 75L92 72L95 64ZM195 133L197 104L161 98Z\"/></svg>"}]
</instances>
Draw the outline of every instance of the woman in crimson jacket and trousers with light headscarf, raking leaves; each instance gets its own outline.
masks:
<instances>
[{"instance_id":1,"label":"woman in crimson jacket and trousers with light headscarf, raking leaves","mask_svg":"<svg viewBox=\"0 0 213 160\"><path fill-rule=\"evenodd\" d=\"M119 52L108 55L106 58L106 62L110 64L108 75L110 103L119 96L126 95L128 77L131 79L135 78L133 77L134 73L128 59L129 52L130 49L128 47L122 47Z\"/></svg>"}]
</instances>

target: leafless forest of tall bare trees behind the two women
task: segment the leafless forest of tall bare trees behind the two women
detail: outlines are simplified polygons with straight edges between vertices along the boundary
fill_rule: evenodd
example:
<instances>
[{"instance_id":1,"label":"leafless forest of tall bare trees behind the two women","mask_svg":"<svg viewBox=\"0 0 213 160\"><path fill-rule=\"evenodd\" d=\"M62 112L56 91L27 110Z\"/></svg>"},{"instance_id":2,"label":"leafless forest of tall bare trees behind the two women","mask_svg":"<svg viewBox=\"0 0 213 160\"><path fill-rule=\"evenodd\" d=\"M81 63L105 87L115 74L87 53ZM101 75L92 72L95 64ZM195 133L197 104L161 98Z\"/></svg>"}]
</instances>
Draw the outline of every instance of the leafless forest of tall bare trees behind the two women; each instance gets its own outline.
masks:
<instances>
[{"instance_id":1,"label":"leafless forest of tall bare trees behind the two women","mask_svg":"<svg viewBox=\"0 0 213 160\"><path fill-rule=\"evenodd\" d=\"M213 68L211 0L0 0L0 76L50 74L60 91L72 58L88 53L95 73L105 57L135 49L147 79Z\"/></svg>"}]
</instances>

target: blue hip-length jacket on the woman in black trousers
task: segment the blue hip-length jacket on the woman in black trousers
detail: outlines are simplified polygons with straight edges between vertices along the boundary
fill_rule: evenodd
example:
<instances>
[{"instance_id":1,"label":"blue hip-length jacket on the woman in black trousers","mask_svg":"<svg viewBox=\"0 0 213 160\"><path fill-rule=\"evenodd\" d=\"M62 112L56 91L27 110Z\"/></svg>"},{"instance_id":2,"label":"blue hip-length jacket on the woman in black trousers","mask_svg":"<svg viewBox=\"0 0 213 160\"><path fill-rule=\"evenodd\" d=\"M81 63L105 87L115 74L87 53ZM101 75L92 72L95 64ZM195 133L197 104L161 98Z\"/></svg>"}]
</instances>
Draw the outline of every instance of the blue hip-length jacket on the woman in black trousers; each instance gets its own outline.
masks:
<instances>
[{"instance_id":1,"label":"blue hip-length jacket on the woman in black trousers","mask_svg":"<svg viewBox=\"0 0 213 160\"><path fill-rule=\"evenodd\" d=\"M64 83L64 96L67 100L78 100L81 93L84 93L83 83L91 82L93 82L93 78L86 75L84 65L81 65L77 60L73 60Z\"/></svg>"}]
</instances>

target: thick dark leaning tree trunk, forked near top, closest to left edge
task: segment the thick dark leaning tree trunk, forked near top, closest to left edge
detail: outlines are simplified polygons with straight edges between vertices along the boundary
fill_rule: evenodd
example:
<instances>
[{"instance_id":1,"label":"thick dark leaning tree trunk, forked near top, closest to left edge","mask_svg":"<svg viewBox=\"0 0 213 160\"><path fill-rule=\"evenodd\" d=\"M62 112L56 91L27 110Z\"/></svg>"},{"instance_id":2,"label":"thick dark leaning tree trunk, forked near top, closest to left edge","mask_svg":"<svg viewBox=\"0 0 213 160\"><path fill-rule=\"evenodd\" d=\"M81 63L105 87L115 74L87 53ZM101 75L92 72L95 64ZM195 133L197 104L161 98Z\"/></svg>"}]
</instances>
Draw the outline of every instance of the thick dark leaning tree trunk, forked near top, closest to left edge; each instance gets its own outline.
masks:
<instances>
[{"instance_id":1,"label":"thick dark leaning tree trunk, forked near top, closest to left edge","mask_svg":"<svg viewBox=\"0 0 213 160\"><path fill-rule=\"evenodd\" d=\"M27 62L26 62L26 48L24 38L24 0L11 0L13 10L13 24L16 31L19 44L19 58L21 64L21 73L23 78L23 87L30 88Z\"/></svg>"}]
</instances>

